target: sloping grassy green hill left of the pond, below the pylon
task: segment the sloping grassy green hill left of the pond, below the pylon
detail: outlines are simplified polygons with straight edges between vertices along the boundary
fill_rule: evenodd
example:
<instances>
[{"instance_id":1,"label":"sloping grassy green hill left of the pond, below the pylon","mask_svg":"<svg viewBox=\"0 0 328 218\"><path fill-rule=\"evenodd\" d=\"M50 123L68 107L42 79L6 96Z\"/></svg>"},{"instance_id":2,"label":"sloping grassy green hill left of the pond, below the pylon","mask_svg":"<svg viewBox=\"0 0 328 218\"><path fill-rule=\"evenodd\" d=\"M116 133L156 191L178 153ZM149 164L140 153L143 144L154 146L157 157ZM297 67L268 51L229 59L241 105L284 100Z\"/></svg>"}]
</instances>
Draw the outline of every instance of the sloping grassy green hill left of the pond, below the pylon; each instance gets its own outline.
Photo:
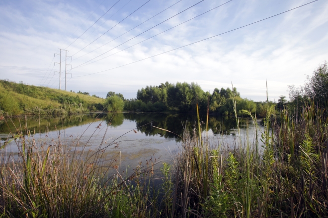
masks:
<instances>
[{"instance_id":1,"label":"sloping grassy green hill left of the pond, below the pylon","mask_svg":"<svg viewBox=\"0 0 328 218\"><path fill-rule=\"evenodd\" d=\"M10 115L73 114L102 110L104 99L0 80L0 110Z\"/></svg>"}]
</instances>

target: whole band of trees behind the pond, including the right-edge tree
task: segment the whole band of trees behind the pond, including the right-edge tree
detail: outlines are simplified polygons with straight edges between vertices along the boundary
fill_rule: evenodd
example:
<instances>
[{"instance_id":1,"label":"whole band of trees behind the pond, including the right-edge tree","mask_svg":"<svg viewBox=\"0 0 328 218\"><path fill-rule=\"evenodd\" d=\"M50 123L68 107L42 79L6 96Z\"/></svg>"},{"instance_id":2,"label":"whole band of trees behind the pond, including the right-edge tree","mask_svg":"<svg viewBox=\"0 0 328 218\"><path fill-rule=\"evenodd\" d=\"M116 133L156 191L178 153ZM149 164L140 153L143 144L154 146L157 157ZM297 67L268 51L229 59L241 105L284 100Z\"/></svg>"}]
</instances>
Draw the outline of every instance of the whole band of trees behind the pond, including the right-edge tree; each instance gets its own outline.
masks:
<instances>
[{"instance_id":1,"label":"whole band of trees behind the pond, including the right-edge tree","mask_svg":"<svg viewBox=\"0 0 328 218\"><path fill-rule=\"evenodd\" d=\"M310 103L328 108L328 63L325 61L319 65L312 74L308 75L303 86L289 86L290 101L286 96L280 96L275 104L277 111L286 109L302 111L302 108ZM122 94L109 92L104 107L109 107L109 111L146 111L146 112L194 112L198 103L200 112L206 112L209 106L211 113L219 115L234 114L234 101L236 102L237 113L243 111L256 113L259 117L265 116L266 106L264 102L254 102L247 98L241 98L236 87L215 88L212 93L205 92L197 83L177 82L161 83L158 86L146 86L139 89L136 98L124 99Z\"/></svg>"}]
</instances>

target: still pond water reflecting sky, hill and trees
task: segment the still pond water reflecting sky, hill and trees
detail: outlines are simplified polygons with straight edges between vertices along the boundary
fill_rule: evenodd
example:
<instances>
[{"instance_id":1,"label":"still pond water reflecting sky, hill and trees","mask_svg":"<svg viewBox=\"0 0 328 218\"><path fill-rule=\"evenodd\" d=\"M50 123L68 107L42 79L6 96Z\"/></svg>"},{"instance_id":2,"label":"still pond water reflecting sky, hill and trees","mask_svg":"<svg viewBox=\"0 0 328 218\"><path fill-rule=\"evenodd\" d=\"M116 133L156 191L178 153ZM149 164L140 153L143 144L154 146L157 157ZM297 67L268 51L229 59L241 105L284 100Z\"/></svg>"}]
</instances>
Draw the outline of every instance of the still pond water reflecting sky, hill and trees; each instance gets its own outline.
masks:
<instances>
[{"instance_id":1,"label":"still pond water reflecting sky, hill and trees","mask_svg":"<svg viewBox=\"0 0 328 218\"><path fill-rule=\"evenodd\" d=\"M84 114L66 117L27 116L26 118L7 119L0 121L1 146L6 140L12 140L1 149L2 153L19 153L18 139L13 140L12 133L17 134L19 129L25 138L36 145L64 145L67 152L78 154L89 152L93 154L102 149L103 158L116 159L116 164L123 170L137 166L140 162L155 159L171 162L179 152L180 136L183 128L192 131L197 125L196 115L180 113L104 113ZM206 115L201 116L202 129L206 129ZM27 129L30 131L28 135ZM254 125L247 118L240 118L242 139L252 141L254 138ZM173 133L161 130L169 130ZM232 116L209 116L208 135L213 142L234 145L236 142L236 118ZM134 131L133 131L134 130ZM175 133L175 134L174 134ZM260 134L260 132L259 132ZM116 143L116 144L115 144ZM77 145L71 147L69 145ZM80 152L80 153L79 153Z\"/></svg>"}]
</instances>

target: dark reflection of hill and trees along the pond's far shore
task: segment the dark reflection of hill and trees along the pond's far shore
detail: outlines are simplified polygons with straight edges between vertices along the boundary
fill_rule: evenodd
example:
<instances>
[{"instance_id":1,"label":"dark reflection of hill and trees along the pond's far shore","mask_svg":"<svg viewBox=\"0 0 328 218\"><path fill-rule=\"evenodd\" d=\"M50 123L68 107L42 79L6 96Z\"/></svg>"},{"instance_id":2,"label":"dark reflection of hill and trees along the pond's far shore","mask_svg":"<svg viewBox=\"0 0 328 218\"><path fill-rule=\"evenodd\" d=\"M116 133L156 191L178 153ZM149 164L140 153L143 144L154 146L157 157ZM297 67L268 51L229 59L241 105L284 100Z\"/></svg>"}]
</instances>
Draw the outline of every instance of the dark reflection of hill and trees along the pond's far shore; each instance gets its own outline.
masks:
<instances>
[{"instance_id":1,"label":"dark reflection of hill and trees along the pond's far shore","mask_svg":"<svg viewBox=\"0 0 328 218\"><path fill-rule=\"evenodd\" d=\"M7 119L7 122L0 122L0 136L1 138L7 137L10 133L9 129L15 133L16 128L25 132L25 126L31 132L45 133L55 130L62 130L73 126L81 126L92 121L105 120L107 125L111 128L121 126L124 120L130 120L136 123L138 131L144 133L146 136L161 136L164 138L175 138L179 140L177 135L182 135L183 128L187 128L192 132L194 127L197 127L197 116L192 114L181 113L104 113L104 114L84 114L73 115L65 117L35 117L26 116L26 118L12 118ZM240 119L240 125L245 124L245 119ZM151 123L150 125L146 125ZM196 124L196 126L195 126ZM206 128L206 115L201 116L202 130ZM153 126L167 129L173 133L154 128ZM233 116L209 116L208 129L214 135L231 135L237 127L236 118Z\"/></svg>"}]
</instances>

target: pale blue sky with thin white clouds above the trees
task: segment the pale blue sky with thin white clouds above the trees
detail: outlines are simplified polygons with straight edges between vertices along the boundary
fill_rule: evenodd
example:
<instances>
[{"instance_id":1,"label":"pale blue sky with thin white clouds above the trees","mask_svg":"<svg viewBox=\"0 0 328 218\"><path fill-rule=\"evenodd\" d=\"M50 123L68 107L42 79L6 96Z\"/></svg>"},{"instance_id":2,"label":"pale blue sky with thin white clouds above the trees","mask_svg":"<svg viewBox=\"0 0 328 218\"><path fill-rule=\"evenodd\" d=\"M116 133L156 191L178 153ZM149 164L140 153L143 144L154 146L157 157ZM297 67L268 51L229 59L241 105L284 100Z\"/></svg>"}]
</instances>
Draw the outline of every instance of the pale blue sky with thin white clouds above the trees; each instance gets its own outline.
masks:
<instances>
[{"instance_id":1,"label":"pale blue sky with thin white clouds above the trees","mask_svg":"<svg viewBox=\"0 0 328 218\"><path fill-rule=\"evenodd\" d=\"M1 0L0 79L59 89L61 70L65 89L66 59L68 91L195 82L277 102L328 60L328 0L311 1Z\"/></svg>"}]
</instances>

